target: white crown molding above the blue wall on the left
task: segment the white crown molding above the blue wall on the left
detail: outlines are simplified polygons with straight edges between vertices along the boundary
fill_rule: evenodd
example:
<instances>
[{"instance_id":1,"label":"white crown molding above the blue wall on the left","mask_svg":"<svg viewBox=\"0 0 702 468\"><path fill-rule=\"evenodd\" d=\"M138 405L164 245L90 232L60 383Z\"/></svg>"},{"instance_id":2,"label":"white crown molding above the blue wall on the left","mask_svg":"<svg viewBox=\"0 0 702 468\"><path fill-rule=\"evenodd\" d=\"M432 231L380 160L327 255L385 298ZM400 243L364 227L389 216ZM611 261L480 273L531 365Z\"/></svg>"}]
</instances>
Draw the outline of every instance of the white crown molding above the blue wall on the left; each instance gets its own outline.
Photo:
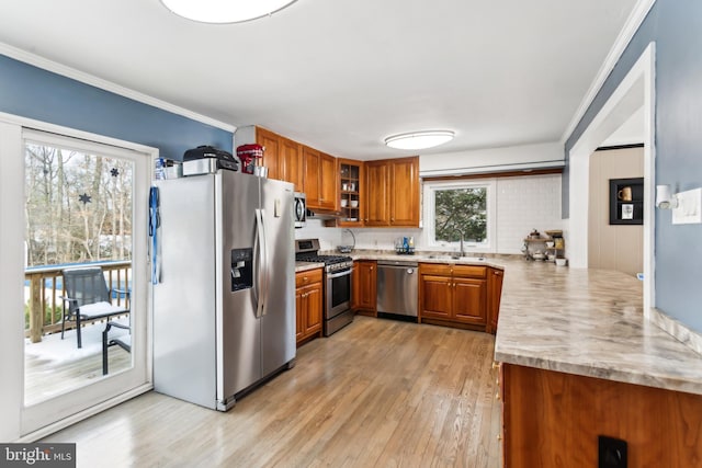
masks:
<instances>
[{"instance_id":1,"label":"white crown molding above the blue wall on the left","mask_svg":"<svg viewBox=\"0 0 702 468\"><path fill-rule=\"evenodd\" d=\"M0 43L0 54L7 55L8 57L22 62L33 65L44 70L52 71L54 73L73 79L76 81L80 81L81 83L90 84L92 87L100 88L105 91L110 91L121 96L128 98L131 100L140 102L143 104L148 104L154 107L158 107L162 111L170 112L172 114L181 115L183 117L188 117L193 121L201 122L203 124L212 125L213 127L217 127L223 130L227 130L231 133L236 130L236 126L234 125L219 122L217 119L207 117L206 115L202 115L196 112L189 111L186 109L180 107L174 104L170 104L166 101L161 101L150 95L143 94L138 91L134 91L132 89L113 83L112 81L103 80L102 78L94 77L92 75L86 73L83 71L77 70L66 65L61 65L57 61L49 60L38 55L31 54L26 50L13 47L8 44Z\"/></svg>"}]
</instances>

